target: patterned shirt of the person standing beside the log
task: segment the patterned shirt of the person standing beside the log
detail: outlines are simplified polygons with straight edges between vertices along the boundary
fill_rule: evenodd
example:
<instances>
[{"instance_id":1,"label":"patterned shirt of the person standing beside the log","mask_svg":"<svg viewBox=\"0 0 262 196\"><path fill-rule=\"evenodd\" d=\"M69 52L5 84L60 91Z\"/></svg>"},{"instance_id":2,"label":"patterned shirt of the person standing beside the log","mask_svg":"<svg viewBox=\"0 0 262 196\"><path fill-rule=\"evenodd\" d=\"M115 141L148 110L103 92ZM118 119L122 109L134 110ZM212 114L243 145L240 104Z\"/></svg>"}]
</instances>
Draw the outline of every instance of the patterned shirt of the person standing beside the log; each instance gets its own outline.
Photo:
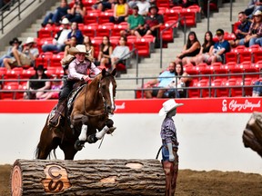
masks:
<instances>
[{"instance_id":1,"label":"patterned shirt of the person standing beside the log","mask_svg":"<svg viewBox=\"0 0 262 196\"><path fill-rule=\"evenodd\" d=\"M173 147L178 148L176 126L171 117L166 116L165 120L162 122L160 135L164 145L171 142Z\"/></svg>"}]
</instances>

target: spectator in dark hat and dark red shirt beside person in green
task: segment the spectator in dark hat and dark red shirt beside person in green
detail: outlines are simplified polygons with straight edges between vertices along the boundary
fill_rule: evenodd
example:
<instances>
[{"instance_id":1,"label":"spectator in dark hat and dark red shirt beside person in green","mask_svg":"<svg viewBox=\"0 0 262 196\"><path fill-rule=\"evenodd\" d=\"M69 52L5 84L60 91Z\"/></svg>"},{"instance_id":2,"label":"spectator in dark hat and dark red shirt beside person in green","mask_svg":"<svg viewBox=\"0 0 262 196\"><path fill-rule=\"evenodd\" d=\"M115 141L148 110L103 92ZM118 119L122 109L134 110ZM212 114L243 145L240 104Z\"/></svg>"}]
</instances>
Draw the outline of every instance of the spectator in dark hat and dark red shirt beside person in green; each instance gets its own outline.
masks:
<instances>
[{"instance_id":1,"label":"spectator in dark hat and dark red shirt beside person in green","mask_svg":"<svg viewBox=\"0 0 262 196\"><path fill-rule=\"evenodd\" d=\"M152 5L149 8L149 15L146 15L145 25L135 31L136 37L142 38L145 34L153 34L155 37L158 35L158 30L164 24L163 15L158 15L158 7Z\"/></svg>"}]
</instances>

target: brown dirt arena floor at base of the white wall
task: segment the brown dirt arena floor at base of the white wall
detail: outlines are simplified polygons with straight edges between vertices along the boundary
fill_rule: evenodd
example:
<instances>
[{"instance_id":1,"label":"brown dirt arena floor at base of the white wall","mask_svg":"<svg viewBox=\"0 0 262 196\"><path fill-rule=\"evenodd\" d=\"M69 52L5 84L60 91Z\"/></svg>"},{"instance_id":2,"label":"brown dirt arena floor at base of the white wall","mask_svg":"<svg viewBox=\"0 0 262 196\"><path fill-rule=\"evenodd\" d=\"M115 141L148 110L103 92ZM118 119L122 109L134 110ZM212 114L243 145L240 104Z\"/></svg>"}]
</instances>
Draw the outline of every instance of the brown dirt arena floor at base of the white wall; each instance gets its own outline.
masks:
<instances>
[{"instance_id":1,"label":"brown dirt arena floor at base of the white wall","mask_svg":"<svg viewBox=\"0 0 262 196\"><path fill-rule=\"evenodd\" d=\"M11 165L0 165L0 195L10 196ZM239 171L180 170L176 196L261 196L262 175Z\"/></svg>"}]
</instances>

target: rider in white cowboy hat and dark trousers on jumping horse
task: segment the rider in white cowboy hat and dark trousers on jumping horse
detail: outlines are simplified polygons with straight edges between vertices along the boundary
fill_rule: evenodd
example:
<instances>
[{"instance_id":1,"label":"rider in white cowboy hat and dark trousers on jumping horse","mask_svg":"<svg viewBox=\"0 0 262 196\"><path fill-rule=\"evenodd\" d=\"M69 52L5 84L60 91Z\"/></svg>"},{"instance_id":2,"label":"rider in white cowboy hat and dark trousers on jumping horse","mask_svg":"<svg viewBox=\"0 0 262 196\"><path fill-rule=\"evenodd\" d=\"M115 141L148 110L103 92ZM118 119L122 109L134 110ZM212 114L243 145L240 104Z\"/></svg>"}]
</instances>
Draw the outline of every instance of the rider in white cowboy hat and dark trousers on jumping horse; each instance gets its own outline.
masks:
<instances>
[{"instance_id":1,"label":"rider in white cowboy hat and dark trousers on jumping horse","mask_svg":"<svg viewBox=\"0 0 262 196\"><path fill-rule=\"evenodd\" d=\"M88 53L85 44L77 44L76 47L71 47L68 52L76 58L68 65L67 80L64 81L62 91L59 94L55 114L51 116L49 120L49 124L55 127L58 126L60 119L62 118L61 114L65 113L67 97L73 90L74 84L79 81L85 81L88 83L90 80L88 76L89 72L94 73L95 75L101 73L101 70L98 69L90 59L86 58Z\"/></svg>"}]
</instances>

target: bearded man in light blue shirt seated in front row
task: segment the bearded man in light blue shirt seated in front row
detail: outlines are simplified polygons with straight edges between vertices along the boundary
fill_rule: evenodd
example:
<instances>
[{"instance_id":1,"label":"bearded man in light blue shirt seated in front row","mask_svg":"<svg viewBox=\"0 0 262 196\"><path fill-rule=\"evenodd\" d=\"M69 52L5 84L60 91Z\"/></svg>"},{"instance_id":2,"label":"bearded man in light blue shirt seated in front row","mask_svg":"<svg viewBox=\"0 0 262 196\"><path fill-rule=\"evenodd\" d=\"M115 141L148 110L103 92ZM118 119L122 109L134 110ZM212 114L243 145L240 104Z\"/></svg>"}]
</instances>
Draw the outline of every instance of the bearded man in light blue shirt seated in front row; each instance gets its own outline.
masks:
<instances>
[{"instance_id":1,"label":"bearded man in light blue shirt seated in front row","mask_svg":"<svg viewBox=\"0 0 262 196\"><path fill-rule=\"evenodd\" d=\"M157 79L149 81L145 84L145 88L154 88L154 90L145 90L146 98L163 98L168 85L172 82L175 77L175 63L171 62L168 66L168 70L161 73ZM156 86L156 84L158 84Z\"/></svg>"}]
</instances>

